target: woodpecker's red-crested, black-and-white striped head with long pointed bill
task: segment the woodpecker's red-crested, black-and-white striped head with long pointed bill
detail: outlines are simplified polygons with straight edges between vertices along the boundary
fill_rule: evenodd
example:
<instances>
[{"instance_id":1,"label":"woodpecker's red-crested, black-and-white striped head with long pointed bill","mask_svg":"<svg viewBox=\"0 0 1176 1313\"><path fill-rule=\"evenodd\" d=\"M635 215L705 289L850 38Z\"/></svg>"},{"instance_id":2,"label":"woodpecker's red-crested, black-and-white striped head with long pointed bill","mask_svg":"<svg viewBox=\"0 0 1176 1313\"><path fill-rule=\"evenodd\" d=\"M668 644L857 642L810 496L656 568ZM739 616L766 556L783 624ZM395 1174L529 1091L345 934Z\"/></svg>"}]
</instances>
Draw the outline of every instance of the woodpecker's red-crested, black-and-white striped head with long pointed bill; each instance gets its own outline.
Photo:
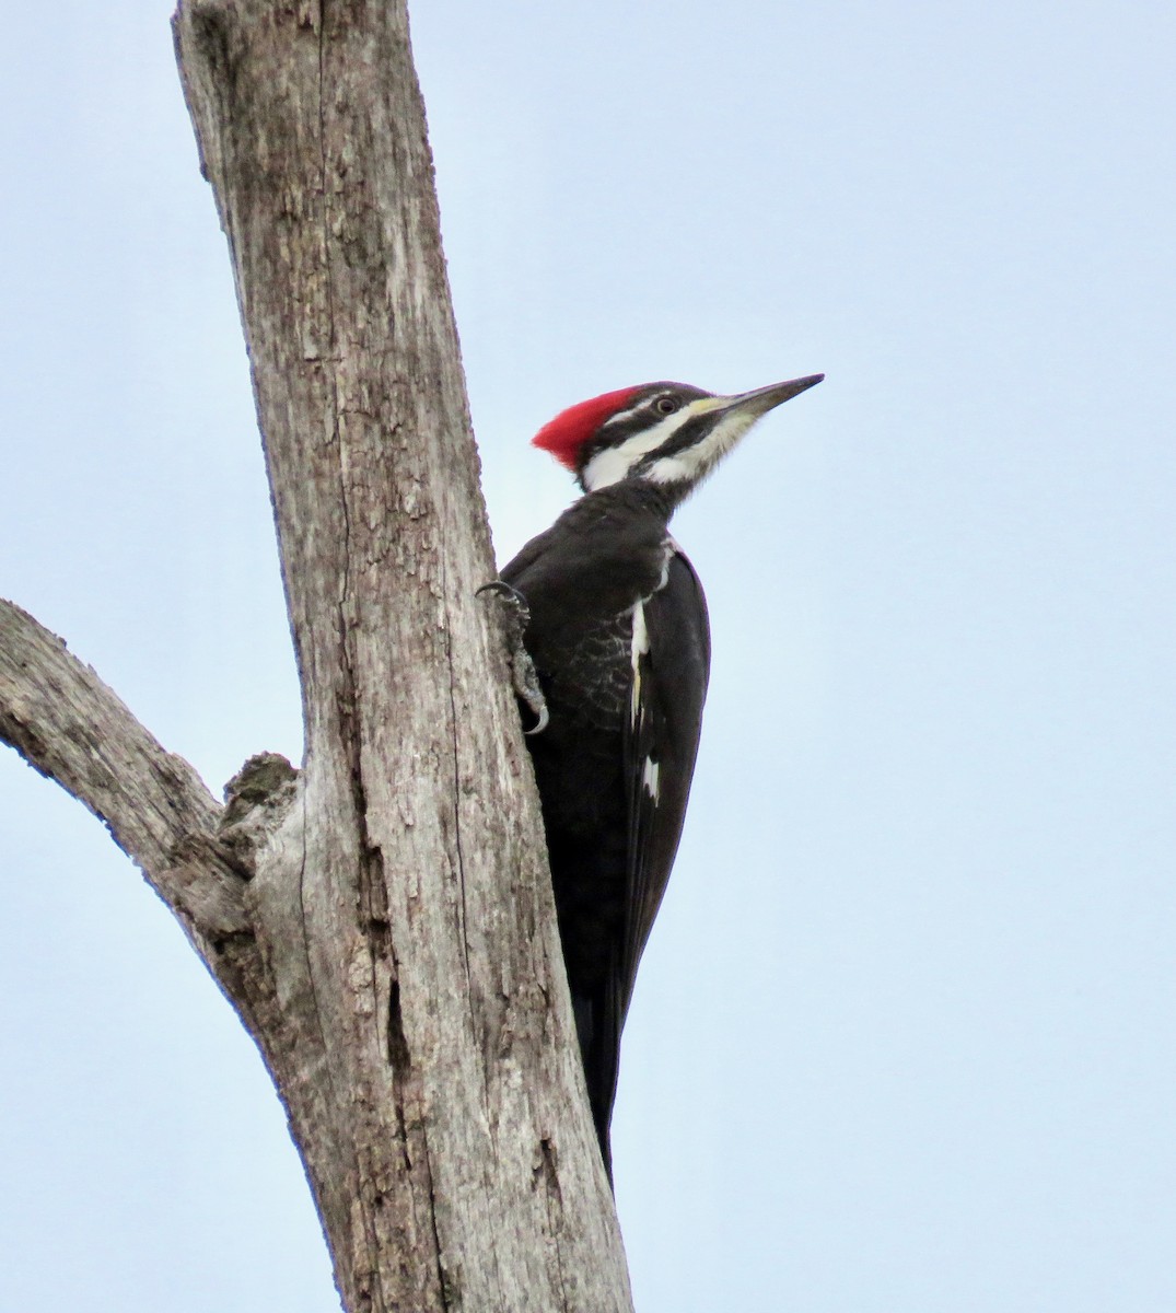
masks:
<instances>
[{"instance_id":1,"label":"woodpecker's red-crested, black-and-white striped head with long pointed bill","mask_svg":"<svg viewBox=\"0 0 1176 1313\"><path fill-rule=\"evenodd\" d=\"M638 478L681 499L769 410L824 374L719 397L688 383L622 387L556 415L532 439L566 465L585 492Z\"/></svg>"}]
</instances>

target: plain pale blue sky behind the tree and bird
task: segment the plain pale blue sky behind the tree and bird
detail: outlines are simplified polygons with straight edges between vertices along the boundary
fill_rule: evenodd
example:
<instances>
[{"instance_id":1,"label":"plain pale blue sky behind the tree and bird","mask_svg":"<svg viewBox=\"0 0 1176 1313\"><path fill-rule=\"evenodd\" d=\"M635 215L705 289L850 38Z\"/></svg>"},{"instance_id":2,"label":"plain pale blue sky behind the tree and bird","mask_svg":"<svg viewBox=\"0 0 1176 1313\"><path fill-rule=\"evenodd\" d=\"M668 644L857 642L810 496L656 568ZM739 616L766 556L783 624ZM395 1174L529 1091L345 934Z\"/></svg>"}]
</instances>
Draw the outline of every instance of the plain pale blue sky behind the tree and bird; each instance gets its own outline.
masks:
<instances>
[{"instance_id":1,"label":"plain pale blue sky behind the tree and bird","mask_svg":"<svg viewBox=\"0 0 1176 1313\"><path fill-rule=\"evenodd\" d=\"M0 593L219 788L299 730L156 0L9 7ZM433 0L503 558L526 439L824 370L675 532L715 667L614 1124L639 1313L1176 1306L1176 11ZM0 756L0 1313L329 1313L249 1043Z\"/></svg>"}]
</instances>

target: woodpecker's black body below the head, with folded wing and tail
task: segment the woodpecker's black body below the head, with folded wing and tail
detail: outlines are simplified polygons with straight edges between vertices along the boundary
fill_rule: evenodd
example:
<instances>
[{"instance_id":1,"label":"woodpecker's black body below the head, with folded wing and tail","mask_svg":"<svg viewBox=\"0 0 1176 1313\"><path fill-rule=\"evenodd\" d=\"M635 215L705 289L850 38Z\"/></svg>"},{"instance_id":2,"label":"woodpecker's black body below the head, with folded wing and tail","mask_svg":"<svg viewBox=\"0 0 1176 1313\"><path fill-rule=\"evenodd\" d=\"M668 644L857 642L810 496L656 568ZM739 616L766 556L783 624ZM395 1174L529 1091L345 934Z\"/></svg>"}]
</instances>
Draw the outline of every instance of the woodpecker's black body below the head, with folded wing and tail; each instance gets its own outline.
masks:
<instances>
[{"instance_id":1,"label":"woodpecker's black body below the head, with folded wing and tail","mask_svg":"<svg viewBox=\"0 0 1176 1313\"><path fill-rule=\"evenodd\" d=\"M669 538L672 509L639 479L589 492L501 572L526 599L524 645L550 714L528 746L606 1166L621 1029L681 835L710 670L706 600Z\"/></svg>"}]
</instances>

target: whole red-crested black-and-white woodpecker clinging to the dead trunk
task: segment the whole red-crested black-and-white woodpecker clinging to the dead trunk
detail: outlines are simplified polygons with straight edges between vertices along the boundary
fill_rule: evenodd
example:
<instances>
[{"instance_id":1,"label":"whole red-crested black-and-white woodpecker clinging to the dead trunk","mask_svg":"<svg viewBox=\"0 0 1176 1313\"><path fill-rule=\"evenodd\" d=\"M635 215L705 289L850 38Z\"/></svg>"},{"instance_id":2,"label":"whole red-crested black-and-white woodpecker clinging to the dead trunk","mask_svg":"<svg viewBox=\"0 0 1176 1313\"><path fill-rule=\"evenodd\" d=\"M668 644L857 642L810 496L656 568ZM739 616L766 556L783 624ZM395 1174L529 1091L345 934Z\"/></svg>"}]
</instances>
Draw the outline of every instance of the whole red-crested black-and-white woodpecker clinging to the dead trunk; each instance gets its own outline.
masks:
<instances>
[{"instance_id":1,"label":"whole red-crested black-and-white woodpecker clinging to the dead trunk","mask_svg":"<svg viewBox=\"0 0 1176 1313\"><path fill-rule=\"evenodd\" d=\"M648 383L566 410L533 441L584 495L488 586L513 593L538 676L528 692L516 663L538 716L528 746L610 1178L621 1028L681 835L710 668L702 586L667 525L761 415L823 377L738 397Z\"/></svg>"}]
</instances>

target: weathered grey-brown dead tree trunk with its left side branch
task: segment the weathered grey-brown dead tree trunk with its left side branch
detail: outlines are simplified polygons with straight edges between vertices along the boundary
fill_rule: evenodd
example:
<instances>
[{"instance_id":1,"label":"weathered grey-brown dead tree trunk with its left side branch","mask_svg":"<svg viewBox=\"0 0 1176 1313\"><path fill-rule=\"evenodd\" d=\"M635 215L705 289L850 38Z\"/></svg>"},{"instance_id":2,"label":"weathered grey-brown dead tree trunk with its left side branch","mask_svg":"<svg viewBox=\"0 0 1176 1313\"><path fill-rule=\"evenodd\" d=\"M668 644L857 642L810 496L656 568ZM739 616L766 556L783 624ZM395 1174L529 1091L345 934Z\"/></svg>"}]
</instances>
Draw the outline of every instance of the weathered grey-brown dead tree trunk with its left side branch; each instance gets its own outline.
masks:
<instances>
[{"instance_id":1,"label":"weathered grey-brown dead tree trunk with its left side branch","mask_svg":"<svg viewBox=\"0 0 1176 1313\"><path fill-rule=\"evenodd\" d=\"M101 819L257 1041L349 1313L629 1309L500 635L403 0L181 0L306 758L227 806L0 605L0 737Z\"/></svg>"}]
</instances>

